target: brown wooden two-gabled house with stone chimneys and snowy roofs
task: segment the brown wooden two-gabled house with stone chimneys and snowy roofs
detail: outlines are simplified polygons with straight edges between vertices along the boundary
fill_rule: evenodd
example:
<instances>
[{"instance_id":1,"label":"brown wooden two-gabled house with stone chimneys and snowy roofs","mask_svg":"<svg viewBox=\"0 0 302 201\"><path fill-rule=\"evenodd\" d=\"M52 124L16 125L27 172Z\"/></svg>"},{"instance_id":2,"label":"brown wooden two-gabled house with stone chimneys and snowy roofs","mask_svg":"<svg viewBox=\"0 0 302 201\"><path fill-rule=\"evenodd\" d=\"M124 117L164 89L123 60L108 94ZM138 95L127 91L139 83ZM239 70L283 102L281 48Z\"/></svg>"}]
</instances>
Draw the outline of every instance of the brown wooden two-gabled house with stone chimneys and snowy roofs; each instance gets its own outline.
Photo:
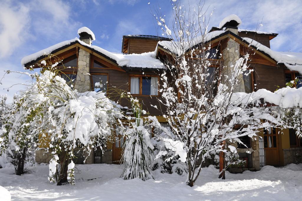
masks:
<instances>
[{"instance_id":1,"label":"brown wooden two-gabled house with stone chimneys and snowy roofs","mask_svg":"<svg viewBox=\"0 0 302 201\"><path fill-rule=\"evenodd\" d=\"M222 54L221 58L209 58L213 68L220 62L232 59L226 56L224 50L233 48L232 57L236 58L240 58L247 50L255 53L250 55L249 62L254 71L244 77L242 91L249 93L262 88L275 91L277 85L284 87L286 82L294 80L295 77L302 79L302 53L273 51L270 49L270 40L278 34L242 30L238 28L240 24L241 20L232 15L207 34L206 43L212 50ZM143 100L143 107L150 115L156 116L159 122L165 124L161 112L151 105L159 104L156 97L159 97L160 82L159 85L157 82L160 81L158 74L165 69L162 63L169 56L178 54L178 49L171 44L171 39L150 35L126 35L123 36L122 53L112 53L92 45L95 36L88 28L80 28L78 34L79 38L63 41L24 57L21 63L29 68L45 60L44 53L54 54L63 59L64 66L71 67L64 68L63 71L68 77L75 79L74 87L78 91L101 90L95 86L95 83L100 81L104 87L130 91L133 96ZM194 41L194 45L200 42ZM300 87L300 84L296 87ZM120 104L128 106L126 102ZM248 161L246 168L259 170L265 164L283 166L295 162L295 153L302 151L302 141L297 138L294 130L284 129L283 133L278 135L278 129L272 128L260 133L262 138L242 139L254 150L252 153L246 153L246 149L237 147L240 157ZM103 156L100 150L95 150L85 163L118 163L122 143L123 138L117 136L115 143L107 144ZM49 159L50 156L43 150L36 154L38 163L48 163Z\"/></svg>"}]
</instances>

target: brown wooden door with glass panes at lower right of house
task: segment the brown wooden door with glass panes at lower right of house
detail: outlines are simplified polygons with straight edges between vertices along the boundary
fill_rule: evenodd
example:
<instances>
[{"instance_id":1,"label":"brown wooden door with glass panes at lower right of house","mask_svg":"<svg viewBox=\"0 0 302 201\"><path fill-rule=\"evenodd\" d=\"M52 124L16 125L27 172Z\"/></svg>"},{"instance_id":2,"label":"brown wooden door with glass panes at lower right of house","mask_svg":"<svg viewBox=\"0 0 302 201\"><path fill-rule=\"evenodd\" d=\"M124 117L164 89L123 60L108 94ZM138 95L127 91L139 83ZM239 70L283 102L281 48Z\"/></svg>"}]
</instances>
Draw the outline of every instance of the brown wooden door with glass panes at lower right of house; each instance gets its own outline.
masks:
<instances>
[{"instance_id":1,"label":"brown wooden door with glass panes at lower right of house","mask_svg":"<svg viewBox=\"0 0 302 201\"><path fill-rule=\"evenodd\" d=\"M264 130L263 134L266 165L279 166L278 128Z\"/></svg>"}]
</instances>

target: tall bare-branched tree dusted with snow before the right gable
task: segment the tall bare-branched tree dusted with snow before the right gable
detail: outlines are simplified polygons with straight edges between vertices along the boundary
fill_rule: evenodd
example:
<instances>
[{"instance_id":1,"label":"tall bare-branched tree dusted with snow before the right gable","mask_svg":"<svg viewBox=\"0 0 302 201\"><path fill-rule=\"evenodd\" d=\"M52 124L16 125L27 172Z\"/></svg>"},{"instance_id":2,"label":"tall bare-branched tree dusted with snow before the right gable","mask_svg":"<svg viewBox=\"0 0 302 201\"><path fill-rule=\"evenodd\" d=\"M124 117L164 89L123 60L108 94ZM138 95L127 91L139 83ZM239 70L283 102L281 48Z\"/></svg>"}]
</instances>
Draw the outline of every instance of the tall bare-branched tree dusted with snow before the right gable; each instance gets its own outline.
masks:
<instances>
[{"instance_id":1,"label":"tall bare-branched tree dusted with snow before the right gable","mask_svg":"<svg viewBox=\"0 0 302 201\"><path fill-rule=\"evenodd\" d=\"M187 164L186 184L193 186L210 153L220 152L219 177L224 177L227 165L234 164L224 161L225 154L233 156L236 152L233 144L242 143L240 137L255 136L260 128L276 120L268 108L254 107L259 106L256 98L253 102L250 94L241 92L243 77L252 71L247 65L249 54L230 56L228 60L224 56L224 62L213 63L211 58L219 59L222 54L213 51L208 43L217 33L208 32L202 6L186 10L179 1L173 1L172 6L171 27L160 12L155 15L163 32L173 38L160 42L171 56L165 63L167 70L160 74L159 102L165 105L163 116L177 140L173 141L167 131L163 140ZM239 48L226 47L224 51L231 55L238 53Z\"/></svg>"}]
</instances>

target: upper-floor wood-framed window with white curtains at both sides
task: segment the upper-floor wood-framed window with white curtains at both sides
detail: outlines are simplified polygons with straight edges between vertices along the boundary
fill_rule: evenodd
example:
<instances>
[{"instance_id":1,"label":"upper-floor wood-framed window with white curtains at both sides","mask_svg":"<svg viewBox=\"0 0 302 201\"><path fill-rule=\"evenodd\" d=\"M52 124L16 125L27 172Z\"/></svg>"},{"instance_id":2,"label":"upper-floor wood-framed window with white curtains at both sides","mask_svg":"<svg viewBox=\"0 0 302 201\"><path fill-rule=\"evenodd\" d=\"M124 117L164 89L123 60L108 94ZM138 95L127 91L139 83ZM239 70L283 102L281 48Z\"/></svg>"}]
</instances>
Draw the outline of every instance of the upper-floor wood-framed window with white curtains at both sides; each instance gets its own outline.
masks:
<instances>
[{"instance_id":1,"label":"upper-floor wood-framed window with white curtains at both sides","mask_svg":"<svg viewBox=\"0 0 302 201\"><path fill-rule=\"evenodd\" d=\"M157 96L158 77L145 75L130 76L130 93Z\"/></svg>"}]
</instances>

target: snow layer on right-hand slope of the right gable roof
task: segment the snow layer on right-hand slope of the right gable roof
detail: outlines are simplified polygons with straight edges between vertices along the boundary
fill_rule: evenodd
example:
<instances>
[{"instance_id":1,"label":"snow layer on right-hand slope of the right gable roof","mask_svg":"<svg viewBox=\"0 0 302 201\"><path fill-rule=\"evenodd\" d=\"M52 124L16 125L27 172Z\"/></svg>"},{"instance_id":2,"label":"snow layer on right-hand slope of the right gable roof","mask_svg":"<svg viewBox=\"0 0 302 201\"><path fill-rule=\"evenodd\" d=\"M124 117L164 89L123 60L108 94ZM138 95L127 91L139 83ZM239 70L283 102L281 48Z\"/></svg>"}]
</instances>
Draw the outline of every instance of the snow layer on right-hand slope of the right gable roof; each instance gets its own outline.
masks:
<instances>
[{"instance_id":1,"label":"snow layer on right-hand slope of the right gable roof","mask_svg":"<svg viewBox=\"0 0 302 201\"><path fill-rule=\"evenodd\" d=\"M278 52L271 50L270 48L251 38L243 38L243 40L257 48L257 50L268 54L271 58L277 61L277 63L283 63L288 69L302 73L302 53Z\"/></svg>"}]
</instances>

